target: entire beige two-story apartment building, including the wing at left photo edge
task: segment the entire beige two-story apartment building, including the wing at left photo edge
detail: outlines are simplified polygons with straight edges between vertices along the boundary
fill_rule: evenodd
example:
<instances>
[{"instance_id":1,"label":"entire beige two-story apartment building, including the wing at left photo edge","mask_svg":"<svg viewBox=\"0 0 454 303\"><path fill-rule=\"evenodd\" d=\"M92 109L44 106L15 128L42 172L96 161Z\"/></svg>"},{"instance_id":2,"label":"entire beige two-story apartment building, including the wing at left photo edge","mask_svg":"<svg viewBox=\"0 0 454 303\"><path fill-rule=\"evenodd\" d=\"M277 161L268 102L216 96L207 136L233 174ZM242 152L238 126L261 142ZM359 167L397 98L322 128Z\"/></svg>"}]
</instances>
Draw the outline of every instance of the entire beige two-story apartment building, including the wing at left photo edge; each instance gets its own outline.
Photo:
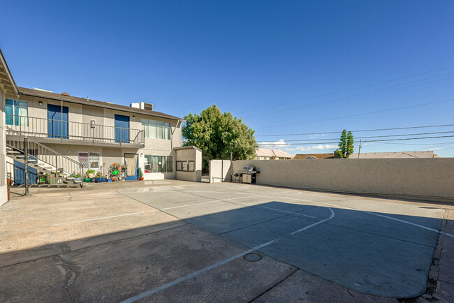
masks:
<instances>
[{"instance_id":1,"label":"entire beige two-story apartment building, including the wing at left photo edge","mask_svg":"<svg viewBox=\"0 0 454 303\"><path fill-rule=\"evenodd\" d=\"M156 112L147 103L125 106L17 87L1 52L0 59L2 197L7 172L16 184L24 182L24 150L29 161L41 165L27 165L29 183L40 168L106 175L112 163L127 164L126 180L138 179L138 168L145 180L176 177L183 119Z\"/></svg>"}]
</instances>

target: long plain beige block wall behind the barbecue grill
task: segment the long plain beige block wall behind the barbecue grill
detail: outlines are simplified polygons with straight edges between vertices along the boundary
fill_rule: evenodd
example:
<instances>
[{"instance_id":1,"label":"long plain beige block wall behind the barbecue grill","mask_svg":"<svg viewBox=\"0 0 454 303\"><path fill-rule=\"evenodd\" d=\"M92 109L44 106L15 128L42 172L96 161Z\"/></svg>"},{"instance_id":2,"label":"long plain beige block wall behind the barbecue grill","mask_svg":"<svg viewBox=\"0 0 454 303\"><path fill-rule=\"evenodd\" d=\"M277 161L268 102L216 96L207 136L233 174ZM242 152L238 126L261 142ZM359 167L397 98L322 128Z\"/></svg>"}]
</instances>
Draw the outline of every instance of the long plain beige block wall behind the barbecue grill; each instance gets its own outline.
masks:
<instances>
[{"instance_id":1,"label":"long plain beige block wall behind the barbecue grill","mask_svg":"<svg viewBox=\"0 0 454 303\"><path fill-rule=\"evenodd\" d=\"M254 165L257 184L454 202L454 158L234 161Z\"/></svg>"}]
</instances>

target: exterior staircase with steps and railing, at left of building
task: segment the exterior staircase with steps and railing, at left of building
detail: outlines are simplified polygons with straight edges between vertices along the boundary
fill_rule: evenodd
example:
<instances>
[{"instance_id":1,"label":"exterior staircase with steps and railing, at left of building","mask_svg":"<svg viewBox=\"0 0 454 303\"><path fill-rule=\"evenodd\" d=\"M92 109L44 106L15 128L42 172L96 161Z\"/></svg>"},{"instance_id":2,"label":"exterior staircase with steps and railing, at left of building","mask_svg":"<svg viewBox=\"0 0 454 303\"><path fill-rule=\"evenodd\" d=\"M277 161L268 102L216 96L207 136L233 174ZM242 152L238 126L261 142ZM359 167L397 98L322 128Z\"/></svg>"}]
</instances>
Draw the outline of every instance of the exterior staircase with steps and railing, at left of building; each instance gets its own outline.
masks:
<instances>
[{"instance_id":1,"label":"exterior staircase with steps and railing, at left of building","mask_svg":"<svg viewBox=\"0 0 454 303\"><path fill-rule=\"evenodd\" d=\"M6 126L6 133L7 135L13 135L13 139L6 138L7 156L43 174L57 177L57 180L59 180L57 181L57 186L83 186L82 181L69 177L72 173L83 176L83 169L78 161L74 161L58 151L27 138L22 133L14 131L8 126ZM27 138L28 163L25 161L25 138Z\"/></svg>"}]
</instances>

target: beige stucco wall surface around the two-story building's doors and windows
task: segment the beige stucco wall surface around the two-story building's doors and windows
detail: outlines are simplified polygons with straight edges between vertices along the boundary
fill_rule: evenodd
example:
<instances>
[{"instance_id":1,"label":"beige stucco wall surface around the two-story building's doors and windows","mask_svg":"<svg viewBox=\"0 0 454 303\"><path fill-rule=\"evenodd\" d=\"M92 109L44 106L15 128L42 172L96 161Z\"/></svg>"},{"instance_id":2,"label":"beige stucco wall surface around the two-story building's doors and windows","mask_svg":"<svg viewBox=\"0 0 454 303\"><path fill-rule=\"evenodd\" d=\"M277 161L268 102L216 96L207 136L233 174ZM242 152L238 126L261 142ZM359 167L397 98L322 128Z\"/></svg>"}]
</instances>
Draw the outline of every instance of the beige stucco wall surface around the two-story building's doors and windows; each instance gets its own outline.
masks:
<instances>
[{"instance_id":1,"label":"beige stucco wall surface around the two-story building's doors and windows","mask_svg":"<svg viewBox=\"0 0 454 303\"><path fill-rule=\"evenodd\" d=\"M52 99L40 98L34 96L20 96L20 101L28 102L29 109L29 126L21 126L22 131L29 131L32 125L36 129L36 124L38 124L38 132L47 133L47 105L61 105L60 101L54 101ZM42 102L42 105L39 105L39 102ZM4 102L4 101L3 101ZM131 129L136 129L140 131L142 129L142 119L150 119L155 121L163 121L170 123L170 140L164 139L152 139L145 138L144 147L140 149L131 149L124 147L101 147L97 146L96 142L94 144L87 145L68 145L61 144L56 140L55 144L45 143L46 146L59 151L64 156L68 156L75 161L78 161L78 153L80 151L87 152L98 152L100 154L100 163L101 165L105 163L106 166L112 163L124 163L124 153L139 154L139 167L142 168L143 176L145 180L152 179L174 179L175 172L175 152L173 151L174 147L180 147L182 145L182 124L180 121L175 121L172 119L164 119L159 117L147 116L145 114L134 114L131 112L123 112L121 110L111 110L107 108L98 108L90 105L80 105L71 102L64 102L64 106L68 107L68 121L71 122L80 122L85 124L90 124L91 120L96 121L96 126L112 126L108 128L109 134L103 134L101 131L105 128L96 128L96 137L97 138L113 138L115 129L115 114L121 114L129 117L129 127ZM40 118L40 119L33 119ZM88 128L88 131L91 131L91 128ZM75 127L69 126L68 135L83 135L83 132L76 130ZM134 132L137 134L138 132ZM91 134L91 133L89 133ZM103 136L104 135L104 136ZM82 137L81 137L82 141ZM173 156L173 172L152 172L145 173L145 155L150 156ZM0 156L1 157L1 156ZM4 163L4 161L2 161ZM105 170L107 173L107 168Z\"/></svg>"}]
</instances>

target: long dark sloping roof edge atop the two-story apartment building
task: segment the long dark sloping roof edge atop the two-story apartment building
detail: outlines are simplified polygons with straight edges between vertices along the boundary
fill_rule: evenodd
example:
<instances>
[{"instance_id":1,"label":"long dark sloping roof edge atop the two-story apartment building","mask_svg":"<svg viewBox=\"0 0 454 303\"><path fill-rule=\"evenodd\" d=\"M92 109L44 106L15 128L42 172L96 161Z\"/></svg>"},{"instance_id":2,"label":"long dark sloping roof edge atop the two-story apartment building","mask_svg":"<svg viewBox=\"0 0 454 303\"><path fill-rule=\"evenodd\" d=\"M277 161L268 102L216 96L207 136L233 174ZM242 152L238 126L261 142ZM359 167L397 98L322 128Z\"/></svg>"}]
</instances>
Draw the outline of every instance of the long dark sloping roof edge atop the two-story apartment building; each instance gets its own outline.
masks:
<instances>
[{"instance_id":1,"label":"long dark sloping roof edge atop the two-story apartment building","mask_svg":"<svg viewBox=\"0 0 454 303\"><path fill-rule=\"evenodd\" d=\"M140 108L131 108L130 106L126 106L126 105L119 105L119 104L110 103L110 102L95 101L95 100L91 100L88 98L64 96L62 94L56 94L56 93L52 93L50 91L41 91L38 89L27 89L25 87L17 87L17 89L19 89L20 94L25 95L25 96L49 98L49 99L53 99L53 100L57 100L57 101L66 101L66 102L78 103L78 104L83 104L83 105L97 106L99 108L109 108L111 110L122 110L124 112L133 112L136 114L147 114L149 116L154 116L154 117L184 121L184 119L182 119L182 118L171 116L170 114L164 114L163 112L156 112L154 110L142 110Z\"/></svg>"}]
</instances>

